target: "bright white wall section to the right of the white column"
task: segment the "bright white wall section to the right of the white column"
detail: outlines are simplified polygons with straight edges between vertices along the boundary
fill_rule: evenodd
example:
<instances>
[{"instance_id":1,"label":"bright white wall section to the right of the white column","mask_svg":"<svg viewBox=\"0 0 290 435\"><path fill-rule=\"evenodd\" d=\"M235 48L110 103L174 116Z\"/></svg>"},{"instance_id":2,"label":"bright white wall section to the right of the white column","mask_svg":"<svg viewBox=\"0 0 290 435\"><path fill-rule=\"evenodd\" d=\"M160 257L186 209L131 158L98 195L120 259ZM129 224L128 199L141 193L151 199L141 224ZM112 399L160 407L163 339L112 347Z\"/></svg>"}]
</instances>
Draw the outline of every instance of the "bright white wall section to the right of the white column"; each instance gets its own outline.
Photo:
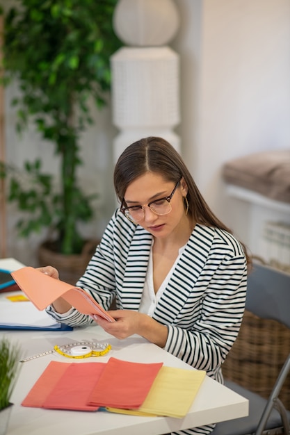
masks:
<instances>
[{"instance_id":1,"label":"bright white wall section to the right of the white column","mask_svg":"<svg viewBox=\"0 0 290 435\"><path fill-rule=\"evenodd\" d=\"M183 153L211 208L255 251L252 219L267 211L228 198L220 172L231 158L290 147L290 2L176 1Z\"/></svg>"}]
</instances>

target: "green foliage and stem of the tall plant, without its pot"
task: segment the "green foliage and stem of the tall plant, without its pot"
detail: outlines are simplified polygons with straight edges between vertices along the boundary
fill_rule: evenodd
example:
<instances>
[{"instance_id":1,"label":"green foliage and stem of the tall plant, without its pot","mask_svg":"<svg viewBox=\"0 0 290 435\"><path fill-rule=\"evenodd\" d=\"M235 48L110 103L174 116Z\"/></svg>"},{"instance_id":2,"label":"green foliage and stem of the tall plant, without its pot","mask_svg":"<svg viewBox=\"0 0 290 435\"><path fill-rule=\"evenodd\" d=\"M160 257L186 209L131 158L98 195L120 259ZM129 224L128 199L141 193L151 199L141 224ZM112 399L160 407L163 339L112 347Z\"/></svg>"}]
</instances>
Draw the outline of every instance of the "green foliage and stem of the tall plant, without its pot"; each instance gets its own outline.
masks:
<instances>
[{"instance_id":1,"label":"green foliage and stem of the tall plant, without its pot","mask_svg":"<svg viewBox=\"0 0 290 435\"><path fill-rule=\"evenodd\" d=\"M16 80L17 130L33 122L60 159L59 190L40 159L26 161L24 183L19 169L1 165L8 179L8 200L22 219L19 234L43 227L54 233L49 247L64 256L82 252L79 222L91 219L95 195L81 188L81 133L92 124L90 99L106 105L111 85L110 56L121 42L113 32L117 0L16 0L4 14L3 83ZM27 178L27 177L26 177ZM53 229L53 231L51 231ZM56 258L54 256L54 258Z\"/></svg>"}]
</instances>

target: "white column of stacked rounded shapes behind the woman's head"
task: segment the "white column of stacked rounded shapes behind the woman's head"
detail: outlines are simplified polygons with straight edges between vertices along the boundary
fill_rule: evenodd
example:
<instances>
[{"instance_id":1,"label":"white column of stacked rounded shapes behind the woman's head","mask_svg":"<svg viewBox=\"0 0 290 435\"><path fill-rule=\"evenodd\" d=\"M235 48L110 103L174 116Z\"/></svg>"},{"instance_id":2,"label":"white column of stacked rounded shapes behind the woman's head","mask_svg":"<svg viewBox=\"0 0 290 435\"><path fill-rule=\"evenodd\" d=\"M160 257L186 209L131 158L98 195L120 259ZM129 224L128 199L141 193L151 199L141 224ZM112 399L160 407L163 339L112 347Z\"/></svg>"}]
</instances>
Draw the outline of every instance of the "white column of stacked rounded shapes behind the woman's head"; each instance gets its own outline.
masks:
<instances>
[{"instance_id":1,"label":"white column of stacked rounded shapes behind the woman's head","mask_svg":"<svg viewBox=\"0 0 290 435\"><path fill-rule=\"evenodd\" d=\"M161 136L179 151L179 56L168 47L179 26L171 0L120 0L114 28L129 47L111 57L114 159L135 140Z\"/></svg>"}]
</instances>

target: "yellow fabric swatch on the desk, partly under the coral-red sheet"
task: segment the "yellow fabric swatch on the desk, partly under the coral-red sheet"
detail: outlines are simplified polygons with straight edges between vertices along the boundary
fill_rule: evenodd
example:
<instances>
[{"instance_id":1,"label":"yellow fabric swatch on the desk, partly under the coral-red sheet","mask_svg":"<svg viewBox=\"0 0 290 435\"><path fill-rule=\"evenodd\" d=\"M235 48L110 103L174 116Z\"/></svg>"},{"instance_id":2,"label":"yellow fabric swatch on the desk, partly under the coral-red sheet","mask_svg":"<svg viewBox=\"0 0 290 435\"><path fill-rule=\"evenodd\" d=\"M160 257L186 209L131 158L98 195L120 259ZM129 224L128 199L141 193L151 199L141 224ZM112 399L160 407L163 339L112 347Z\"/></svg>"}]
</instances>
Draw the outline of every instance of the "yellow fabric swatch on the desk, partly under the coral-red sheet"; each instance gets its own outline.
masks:
<instances>
[{"instance_id":1,"label":"yellow fabric swatch on the desk, partly under the coral-red sheet","mask_svg":"<svg viewBox=\"0 0 290 435\"><path fill-rule=\"evenodd\" d=\"M204 370L161 367L139 411L182 418L198 393Z\"/></svg>"}]
</instances>

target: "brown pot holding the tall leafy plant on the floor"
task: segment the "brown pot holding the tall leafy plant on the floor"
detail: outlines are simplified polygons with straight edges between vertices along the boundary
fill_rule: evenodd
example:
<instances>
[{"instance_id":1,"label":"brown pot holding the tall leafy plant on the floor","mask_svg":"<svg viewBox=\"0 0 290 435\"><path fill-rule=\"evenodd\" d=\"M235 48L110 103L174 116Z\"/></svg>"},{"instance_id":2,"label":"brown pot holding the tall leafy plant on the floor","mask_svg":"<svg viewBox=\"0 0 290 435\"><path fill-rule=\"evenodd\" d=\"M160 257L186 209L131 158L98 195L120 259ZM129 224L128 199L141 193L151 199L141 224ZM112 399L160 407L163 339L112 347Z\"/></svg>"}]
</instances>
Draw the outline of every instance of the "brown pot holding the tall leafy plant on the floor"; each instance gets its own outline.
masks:
<instances>
[{"instance_id":1,"label":"brown pot holding the tall leafy plant on the floor","mask_svg":"<svg viewBox=\"0 0 290 435\"><path fill-rule=\"evenodd\" d=\"M38 248L38 264L53 266L58 270L62 281L76 284L86 270L98 244L99 240L87 240L81 254L65 255L56 252L54 241L46 240Z\"/></svg>"}]
</instances>

